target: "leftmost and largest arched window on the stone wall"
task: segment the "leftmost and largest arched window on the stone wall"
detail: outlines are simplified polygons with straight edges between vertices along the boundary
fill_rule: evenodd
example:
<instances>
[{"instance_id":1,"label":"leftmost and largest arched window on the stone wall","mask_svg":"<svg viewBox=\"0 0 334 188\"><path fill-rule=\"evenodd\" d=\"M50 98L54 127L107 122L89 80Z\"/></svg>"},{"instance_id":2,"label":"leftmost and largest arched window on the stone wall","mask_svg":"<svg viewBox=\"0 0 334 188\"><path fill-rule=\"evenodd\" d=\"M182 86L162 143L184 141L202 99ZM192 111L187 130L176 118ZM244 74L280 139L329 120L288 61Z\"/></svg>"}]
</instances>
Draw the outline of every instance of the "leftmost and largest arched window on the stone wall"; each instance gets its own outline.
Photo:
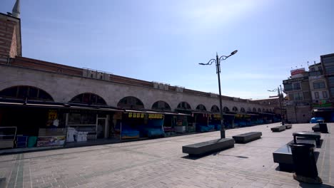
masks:
<instances>
[{"instance_id":1,"label":"leftmost and largest arched window on the stone wall","mask_svg":"<svg viewBox=\"0 0 334 188\"><path fill-rule=\"evenodd\" d=\"M28 85L19 85L6 88L0 91L1 98L16 98L28 100L54 101L54 99L44 90Z\"/></svg>"}]
</instances>

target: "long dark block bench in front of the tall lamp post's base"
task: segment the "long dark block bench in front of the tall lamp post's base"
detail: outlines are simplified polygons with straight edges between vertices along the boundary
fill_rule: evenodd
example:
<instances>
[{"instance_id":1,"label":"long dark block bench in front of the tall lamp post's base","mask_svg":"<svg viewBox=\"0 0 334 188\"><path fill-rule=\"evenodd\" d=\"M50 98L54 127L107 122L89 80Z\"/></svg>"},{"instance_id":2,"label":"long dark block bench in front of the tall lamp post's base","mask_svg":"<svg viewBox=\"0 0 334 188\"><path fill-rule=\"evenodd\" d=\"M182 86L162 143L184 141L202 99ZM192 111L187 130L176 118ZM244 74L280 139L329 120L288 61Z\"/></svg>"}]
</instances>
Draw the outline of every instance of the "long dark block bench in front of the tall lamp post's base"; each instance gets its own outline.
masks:
<instances>
[{"instance_id":1,"label":"long dark block bench in front of the tall lamp post's base","mask_svg":"<svg viewBox=\"0 0 334 188\"><path fill-rule=\"evenodd\" d=\"M230 147L234 147L234 140L232 138L222 138L218 140L199 142L193 145L185 145L182 147L182 152L188 153L189 157L200 157Z\"/></svg>"}]
</instances>

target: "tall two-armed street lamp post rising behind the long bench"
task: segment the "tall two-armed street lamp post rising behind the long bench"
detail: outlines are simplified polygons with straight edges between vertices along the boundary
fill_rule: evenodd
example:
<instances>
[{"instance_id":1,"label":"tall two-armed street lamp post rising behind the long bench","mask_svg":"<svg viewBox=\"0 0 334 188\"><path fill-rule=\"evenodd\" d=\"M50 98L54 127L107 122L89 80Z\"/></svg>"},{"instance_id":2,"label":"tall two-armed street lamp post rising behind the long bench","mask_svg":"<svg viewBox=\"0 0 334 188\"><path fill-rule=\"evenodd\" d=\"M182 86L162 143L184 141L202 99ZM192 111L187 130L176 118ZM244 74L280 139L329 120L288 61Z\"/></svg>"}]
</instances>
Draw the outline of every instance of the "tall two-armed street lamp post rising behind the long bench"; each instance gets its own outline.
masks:
<instances>
[{"instance_id":1,"label":"tall two-armed street lamp post rising behind the long bench","mask_svg":"<svg viewBox=\"0 0 334 188\"><path fill-rule=\"evenodd\" d=\"M198 63L202 66L210 66L213 62L216 63L216 73L218 75L218 87L219 87L219 112L221 113L221 138L225 138L225 127L223 124L223 103L221 102L221 61L226 60L228 57L233 56L238 51L233 51L229 56L221 56L218 57L218 53L216 53L216 59L211 59L208 63Z\"/></svg>"}]
</instances>

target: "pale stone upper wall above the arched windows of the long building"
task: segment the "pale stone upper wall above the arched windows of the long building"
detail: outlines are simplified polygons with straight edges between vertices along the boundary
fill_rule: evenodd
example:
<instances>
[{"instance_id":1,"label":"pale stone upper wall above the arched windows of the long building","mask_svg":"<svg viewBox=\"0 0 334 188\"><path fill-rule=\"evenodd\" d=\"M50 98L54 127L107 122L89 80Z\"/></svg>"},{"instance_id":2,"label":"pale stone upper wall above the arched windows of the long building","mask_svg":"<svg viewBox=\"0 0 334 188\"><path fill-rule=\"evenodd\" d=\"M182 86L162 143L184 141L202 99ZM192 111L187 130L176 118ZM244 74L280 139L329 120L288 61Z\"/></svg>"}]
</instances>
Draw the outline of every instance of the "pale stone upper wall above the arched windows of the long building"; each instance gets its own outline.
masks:
<instances>
[{"instance_id":1,"label":"pale stone upper wall above the arched windows of the long building","mask_svg":"<svg viewBox=\"0 0 334 188\"><path fill-rule=\"evenodd\" d=\"M21 61L23 61L22 58ZM210 93L198 91L193 91L193 93L191 93L186 89L184 89L183 92L178 92L176 90L162 90L154 88L153 86L143 86L145 83L143 80L138 80L138 82L142 82L139 84L131 81L123 81L123 83L121 83L121 78L111 80L87 78L82 75L64 73L64 71L56 72L56 70L58 70L56 65L58 64L54 64L54 67L50 65L48 66L55 71L42 71L41 69L45 69L43 67L46 65L41 61L36 62L39 62L40 66L30 66L30 68L18 66L18 64L14 64L15 66L0 64L0 90L16 85L29 85L45 90L46 93L49 93L51 97L54 98L55 102L60 103L69 102L72 98L81 93L94 93L106 100L108 105L115 107L122 98L127 96L133 96L141 100L146 109L151 109L153 103L158 100L163 100L168 103L172 110L176 109L181 102L186 102L191 105L192 110L195 110L200 104L204 105L208 111L211 110L213 105L219 106L218 97L216 95L210 95ZM65 70L64 67L63 69ZM116 78L116 75L112 76ZM150 82L146 83L146 85L148 85ZM173 88L173 86L169 88ZM188 93L186 93L186 91ZM230 110L232 110L233 107L236 107L239 112L241 108L246 110L256 108L267 112L270 110L273 111L273 106L252 103L248 100L237 100L236 98L223 96L223 107L227 107Z\"/></svg>"}]
</instances>

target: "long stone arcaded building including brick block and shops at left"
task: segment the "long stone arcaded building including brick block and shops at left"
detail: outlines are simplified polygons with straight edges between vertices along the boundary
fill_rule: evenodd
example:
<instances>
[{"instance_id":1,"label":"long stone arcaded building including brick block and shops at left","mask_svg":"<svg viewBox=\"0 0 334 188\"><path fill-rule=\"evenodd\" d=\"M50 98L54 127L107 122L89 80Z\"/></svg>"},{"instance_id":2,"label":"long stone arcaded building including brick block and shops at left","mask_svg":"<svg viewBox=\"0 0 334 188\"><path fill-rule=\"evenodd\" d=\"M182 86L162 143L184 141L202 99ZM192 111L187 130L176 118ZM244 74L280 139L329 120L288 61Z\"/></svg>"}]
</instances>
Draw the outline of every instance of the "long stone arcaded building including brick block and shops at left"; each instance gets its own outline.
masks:
<instances>
[{"instance_id":1,"label":"long stone arcaded building including brick block and shops at left","mask_svg":"<svg viewBox=\"0 0 334 188\"><path fill-rule=\"evenodd\" d=\"M73 132L94 140L219 130L220 110L227 127L273 119L272 107L251 100L222 96L219 109L214 93L22 57L19 12L0 14L0 129L15 127L35 146L64 145Z\"/></svg>"}]
</instances>

